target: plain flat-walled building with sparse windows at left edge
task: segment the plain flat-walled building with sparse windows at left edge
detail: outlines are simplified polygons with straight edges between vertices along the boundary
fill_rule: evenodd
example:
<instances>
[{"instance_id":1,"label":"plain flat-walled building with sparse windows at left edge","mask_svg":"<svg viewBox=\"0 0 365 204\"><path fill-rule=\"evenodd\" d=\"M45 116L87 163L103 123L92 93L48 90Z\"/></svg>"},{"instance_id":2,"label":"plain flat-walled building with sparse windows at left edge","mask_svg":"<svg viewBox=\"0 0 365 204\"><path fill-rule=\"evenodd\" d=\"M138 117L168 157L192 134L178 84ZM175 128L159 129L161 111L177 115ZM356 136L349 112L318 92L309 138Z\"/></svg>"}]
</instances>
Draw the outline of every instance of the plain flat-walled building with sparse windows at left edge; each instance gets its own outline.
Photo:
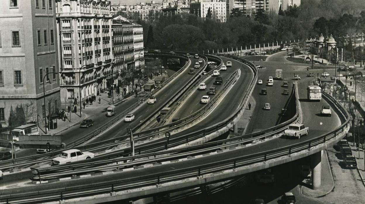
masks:
<instances>
[{"instance_id":1,"label":"plain flat-walled building with sparse windows at left edge","mask_svg":"<svg viewBox=\"0 0 365 204\"><path fill-rule=\"evenodd\" d=\"M0 14L0 123L22 106L44 130L60 103L55 1L4 0Z\"/></svg>"}]
</instances>

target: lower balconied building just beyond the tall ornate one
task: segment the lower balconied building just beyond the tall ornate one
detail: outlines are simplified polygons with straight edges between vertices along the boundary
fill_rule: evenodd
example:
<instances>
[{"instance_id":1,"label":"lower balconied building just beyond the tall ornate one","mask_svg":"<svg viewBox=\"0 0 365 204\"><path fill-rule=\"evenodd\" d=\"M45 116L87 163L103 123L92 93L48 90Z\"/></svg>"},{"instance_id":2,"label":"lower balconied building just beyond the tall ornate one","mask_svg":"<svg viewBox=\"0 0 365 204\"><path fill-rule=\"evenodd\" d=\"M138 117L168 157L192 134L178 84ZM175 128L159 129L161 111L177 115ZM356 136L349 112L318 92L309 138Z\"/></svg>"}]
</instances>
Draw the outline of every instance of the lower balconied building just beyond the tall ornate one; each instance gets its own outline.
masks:
<instances>
[{"instance_id":1,"label":"lower balconied building just beyond the tall ornate one","mask_svg":"<svg viewBox=\"0 0 365 204\"><path fill-rule=\"evenodd\" d=\"M143 28L122 16L113 19L114 67L119 72L143 69Z\"/></svg>"}]
</instances>

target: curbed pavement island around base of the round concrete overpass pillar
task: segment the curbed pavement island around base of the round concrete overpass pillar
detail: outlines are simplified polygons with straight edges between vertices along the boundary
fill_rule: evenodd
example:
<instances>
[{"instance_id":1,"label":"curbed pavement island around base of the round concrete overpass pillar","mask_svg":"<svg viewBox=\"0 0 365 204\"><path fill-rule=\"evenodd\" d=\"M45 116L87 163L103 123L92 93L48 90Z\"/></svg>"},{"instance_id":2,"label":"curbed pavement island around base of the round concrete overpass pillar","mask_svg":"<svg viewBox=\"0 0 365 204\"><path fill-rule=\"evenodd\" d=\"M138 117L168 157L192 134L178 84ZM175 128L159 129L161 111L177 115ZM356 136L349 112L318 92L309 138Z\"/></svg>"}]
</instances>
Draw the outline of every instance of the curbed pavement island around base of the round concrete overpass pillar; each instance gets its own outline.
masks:
<instances>
[{"instance_id":1,"label":"curbed pavement island around base of the round concrete overpass pillar","mask_svg":"<svg viewBox=\"0 0 365 204\"><path fill-rule=\"evenodd\" d=\"M333 180L333 174L330 167L330 162L328 161L327 151L323 150L324 154L322 154L322 176L321 176L321 186L320 188L313 190L312 189L312 179L306 178L303 180L303 185L300 186L301 195L308 197L323 197L328 193L331 193L335 188L335 182Z\"/></svg>"}]
</instances>

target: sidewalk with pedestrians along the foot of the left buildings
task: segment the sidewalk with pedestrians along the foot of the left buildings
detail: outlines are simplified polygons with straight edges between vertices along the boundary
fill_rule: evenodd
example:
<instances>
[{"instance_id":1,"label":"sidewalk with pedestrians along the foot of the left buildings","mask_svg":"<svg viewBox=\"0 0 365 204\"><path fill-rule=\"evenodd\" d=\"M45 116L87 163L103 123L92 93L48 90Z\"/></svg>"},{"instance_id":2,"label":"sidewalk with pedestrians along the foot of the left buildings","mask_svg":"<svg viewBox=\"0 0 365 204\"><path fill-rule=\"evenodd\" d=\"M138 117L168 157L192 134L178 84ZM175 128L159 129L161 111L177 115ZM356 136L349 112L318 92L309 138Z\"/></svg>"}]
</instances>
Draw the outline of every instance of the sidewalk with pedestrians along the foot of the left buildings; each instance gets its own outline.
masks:
<instances>
[{"instance_id":1,"label":"sidewalk with pedestrians along the foot of the left buildings","mask_svg":"<svg viewBox=\"0 0 365 204\"><path fill-rule=\"evenodd\" d=\"M154 79L151 79L151 80L154 80ZM149 80L149 81L151 81L151 80ZM135 79L134 84L138 84L138 79ZM137 89L138 94L144 93L144 91L141 91L141 90L143 90L144 84L145 83L142 84L142 89L138 86L138 89ZM129 86L130 92L132 92L132 90L134 90L134 89L135 89L135 87L132 88L132 84L130 84L130 86ZM127 96L127 98L134 97L134 94L132 94L132 95L127 94L126 96ZM100 103L99 103L99 97L100 97ZM124 97L122 98L121 93L119 94L119 97L118 97L118 94L114 91L114 105L122 102L123 100L125 100L127 98L124 98ZM83 101L85 101L85 100L83 100ZM77 112L76 113L74 113L74 112L67 113L67 119L65 121L62 119L57 119L57 128L54 130L48 130L47 135L48 134L57 135L60 132L67 130L68 128L70 128L72 126L81 123L81 121L86 118L89 118L94 115L100 115L100 112L103 112L105 110L105 108L112 105L111 102L112 102L112 97L111 96L108 97L108 91L104 91L100 95L96 96L96 101L93 101L92 105L90 103L89 104L85 103L86 105L84 108L84 106L81 104L81 107L82 107L81 117L80 117L80 102L78 102L77 103ZM60 109L60 111L62 111L62 109ZM40 127L41 127L41 124L40 124ZM43 125L43 127L44 127L44 125ZM44 130L39 130L39 132L41 135L46 134Z\"/></svg>"}]
</instances>

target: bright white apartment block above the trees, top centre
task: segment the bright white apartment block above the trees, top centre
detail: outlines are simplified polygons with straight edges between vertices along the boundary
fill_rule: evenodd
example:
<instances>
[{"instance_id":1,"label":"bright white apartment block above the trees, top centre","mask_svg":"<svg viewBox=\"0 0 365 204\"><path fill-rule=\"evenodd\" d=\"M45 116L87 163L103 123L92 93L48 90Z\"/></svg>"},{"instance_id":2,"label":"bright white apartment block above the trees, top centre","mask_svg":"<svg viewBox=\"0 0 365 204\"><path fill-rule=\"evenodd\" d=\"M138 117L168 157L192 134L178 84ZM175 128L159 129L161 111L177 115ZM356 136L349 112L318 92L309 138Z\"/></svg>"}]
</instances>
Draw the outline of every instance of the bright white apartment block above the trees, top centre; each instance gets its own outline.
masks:
<instances>
[{"instance_id":1,"label":"bright white apartment block above the trees, top centre","mask_svg":"<svg viewBox=\"0 0 365 204\"><path fill-rule=\"evenodd\" d=\"M212 19L219 22L226 22L226 2L221 0L211 0L195 2L190 4L190 13L205 18L208 14L210 8Z\"/></svg>"}]
</instances>

